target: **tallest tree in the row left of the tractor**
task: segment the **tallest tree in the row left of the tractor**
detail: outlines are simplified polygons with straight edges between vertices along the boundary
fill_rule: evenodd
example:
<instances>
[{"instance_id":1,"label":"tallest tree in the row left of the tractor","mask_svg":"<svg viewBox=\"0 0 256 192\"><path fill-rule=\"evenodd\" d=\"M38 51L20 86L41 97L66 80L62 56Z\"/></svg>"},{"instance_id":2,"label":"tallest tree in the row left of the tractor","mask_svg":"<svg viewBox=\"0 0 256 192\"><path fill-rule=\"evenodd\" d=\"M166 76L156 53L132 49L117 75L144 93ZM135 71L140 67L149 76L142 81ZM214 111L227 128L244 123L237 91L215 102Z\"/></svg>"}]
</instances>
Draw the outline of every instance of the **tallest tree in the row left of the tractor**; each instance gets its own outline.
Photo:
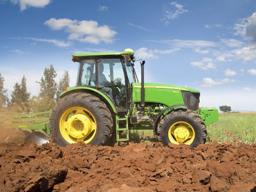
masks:
<instances>
[{"instance_id":1,"label":"tallest tree in the row left of the tractor","mask_svg":"<svg viewBox=\"0 0 256 192\"><path fill-rule=\"evenodd\" d=\"M40 84L38 111L47 111L53 108L57 90L57 84L54 80L56 76L56 71L51 65L50 68L45 67L44 76L41 77L39 82L36 81Z\"/></svg>"}]
</instances>

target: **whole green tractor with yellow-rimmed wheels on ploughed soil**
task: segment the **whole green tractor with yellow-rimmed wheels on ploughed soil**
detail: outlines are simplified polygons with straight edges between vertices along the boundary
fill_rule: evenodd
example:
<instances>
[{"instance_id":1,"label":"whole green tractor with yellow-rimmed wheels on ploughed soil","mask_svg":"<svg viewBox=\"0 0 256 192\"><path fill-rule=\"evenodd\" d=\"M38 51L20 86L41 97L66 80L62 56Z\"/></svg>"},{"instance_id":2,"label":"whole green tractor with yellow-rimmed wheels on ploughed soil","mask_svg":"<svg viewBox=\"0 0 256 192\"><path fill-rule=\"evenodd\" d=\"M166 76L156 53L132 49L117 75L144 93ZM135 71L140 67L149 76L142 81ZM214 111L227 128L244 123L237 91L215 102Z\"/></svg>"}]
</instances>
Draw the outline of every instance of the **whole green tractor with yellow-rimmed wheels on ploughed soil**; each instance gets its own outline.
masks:
<instances>
[{"instance_id":1,"label":"whole green tractor with yellow-rimmed wheels on ploughed soil","mask_svg":"<svg viewBox=\"0 0 256 192\"><path fill-rule=\"evenodd\" d=\"M151 129L164 145L196 147L218 120L218 109L198 107L198 90L144 83L141 60L139 83L132 49L74 54L72 61L79 63L76 87L63 90L49 119L51 138L62 146L128 142L129 130Z\"/></svg>"}]
</instances>

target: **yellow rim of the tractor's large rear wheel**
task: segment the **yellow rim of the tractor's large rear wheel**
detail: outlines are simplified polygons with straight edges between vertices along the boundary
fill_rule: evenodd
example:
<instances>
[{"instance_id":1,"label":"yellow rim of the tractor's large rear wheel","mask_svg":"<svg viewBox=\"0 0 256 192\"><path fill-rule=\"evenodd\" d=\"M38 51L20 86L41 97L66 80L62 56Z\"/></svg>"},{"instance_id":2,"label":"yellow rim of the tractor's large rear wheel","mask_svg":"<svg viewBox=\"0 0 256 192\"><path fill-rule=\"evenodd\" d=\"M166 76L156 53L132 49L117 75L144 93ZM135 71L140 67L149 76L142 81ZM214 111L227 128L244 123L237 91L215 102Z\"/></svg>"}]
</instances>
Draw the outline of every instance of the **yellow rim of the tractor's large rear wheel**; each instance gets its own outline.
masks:
<instances>
[{"instance_id":1,"label":"yellow rim of the tractor's large rear wheel","mask_svg":"<svg viewBox=\"0 0 256 192\"><path fill-rule=\"evenodd\" d=\"M68 143L89 143L96 131L96 120L88 109L69 108L60 118L60 133Z\"/></svg>"}]
</instances>

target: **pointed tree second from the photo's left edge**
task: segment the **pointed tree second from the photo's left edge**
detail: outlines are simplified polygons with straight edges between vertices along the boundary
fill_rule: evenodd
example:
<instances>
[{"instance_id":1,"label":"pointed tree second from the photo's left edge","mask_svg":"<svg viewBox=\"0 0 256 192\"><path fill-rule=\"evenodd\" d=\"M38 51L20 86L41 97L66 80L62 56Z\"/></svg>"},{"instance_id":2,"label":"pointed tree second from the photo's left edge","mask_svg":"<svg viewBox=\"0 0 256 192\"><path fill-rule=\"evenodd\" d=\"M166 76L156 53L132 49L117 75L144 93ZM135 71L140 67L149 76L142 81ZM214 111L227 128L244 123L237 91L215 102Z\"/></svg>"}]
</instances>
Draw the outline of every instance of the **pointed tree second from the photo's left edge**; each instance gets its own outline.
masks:
<instances>
[{"instance_id":1,"label":"pointed tree second from the photo's left edge","mask_svg":"<svg viewBox=\"0 0 256 192\"><path fill-rule=\"evenodd\" d=\"M20 112L28 112L30 93L27 90L26 77L22 77L20 84L15 83L13 89L11 105L18 108Z\"/></svg>"}]
</instances>

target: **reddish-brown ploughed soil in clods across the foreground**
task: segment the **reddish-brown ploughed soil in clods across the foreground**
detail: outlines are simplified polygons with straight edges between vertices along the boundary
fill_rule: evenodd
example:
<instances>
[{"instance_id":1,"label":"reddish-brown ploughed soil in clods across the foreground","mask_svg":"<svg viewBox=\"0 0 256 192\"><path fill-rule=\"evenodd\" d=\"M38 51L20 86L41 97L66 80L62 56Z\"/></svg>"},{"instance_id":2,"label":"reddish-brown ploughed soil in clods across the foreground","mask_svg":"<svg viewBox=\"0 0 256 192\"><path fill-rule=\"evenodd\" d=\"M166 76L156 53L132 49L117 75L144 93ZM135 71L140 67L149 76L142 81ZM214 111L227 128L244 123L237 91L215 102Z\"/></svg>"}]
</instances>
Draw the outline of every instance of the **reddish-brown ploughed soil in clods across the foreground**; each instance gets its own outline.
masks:
<instances>
[{"instance_id":1,"label":"reddish-brown ploughed soil in clods across the foreground","mask_svg":"<svg viewBox=\"0 0 256 192\"><path fill-rule=\"evenodd\" d=\"M256 145L36 146L10 133L1 134L0 191L256 191Z\"/></svg>"}]
</instances>

